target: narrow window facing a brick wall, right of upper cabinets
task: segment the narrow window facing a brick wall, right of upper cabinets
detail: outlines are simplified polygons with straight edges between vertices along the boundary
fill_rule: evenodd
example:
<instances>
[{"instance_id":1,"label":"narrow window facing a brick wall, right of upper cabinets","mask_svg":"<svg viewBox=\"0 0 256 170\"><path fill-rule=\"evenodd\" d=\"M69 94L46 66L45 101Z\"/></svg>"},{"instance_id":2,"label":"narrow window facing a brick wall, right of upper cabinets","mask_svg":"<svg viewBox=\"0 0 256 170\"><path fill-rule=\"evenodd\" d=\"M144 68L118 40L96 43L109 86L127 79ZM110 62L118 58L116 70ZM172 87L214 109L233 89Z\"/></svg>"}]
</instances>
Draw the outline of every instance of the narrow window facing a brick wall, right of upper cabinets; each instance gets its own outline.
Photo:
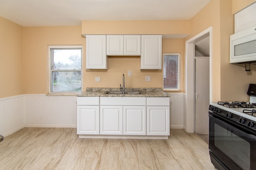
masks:
<instances>
[{"instance_id":1,"label":"narrow window facing a brick wall, right of upper cabinets","mask_svg":"<svg viewBox=\"0 0 256 170\"><path fill-rule=\"evenodd\" d=\"M180 90L180 53L164 54L164 90Z\"/></svg>"}]
</instances>

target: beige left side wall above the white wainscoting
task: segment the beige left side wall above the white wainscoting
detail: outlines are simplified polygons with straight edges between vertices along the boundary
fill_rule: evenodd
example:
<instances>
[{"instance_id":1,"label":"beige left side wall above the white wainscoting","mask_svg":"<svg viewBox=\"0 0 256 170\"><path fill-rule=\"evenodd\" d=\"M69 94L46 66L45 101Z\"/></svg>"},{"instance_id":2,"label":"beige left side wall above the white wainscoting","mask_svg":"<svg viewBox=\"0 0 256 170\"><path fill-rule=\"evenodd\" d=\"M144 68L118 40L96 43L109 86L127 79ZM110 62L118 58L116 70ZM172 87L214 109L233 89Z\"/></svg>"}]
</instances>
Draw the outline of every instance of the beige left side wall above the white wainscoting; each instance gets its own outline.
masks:
<instances>
[{"instance_id":1,"label":"beige left side wall above the white wainscoting","mask_svg":"<svg viewBox=\"0 0 256 170\"><path fill-rule=\"evenodd\" d=\"M23 27L0 17L0 98L23 94Z\"/></svg>"}]
</instances>

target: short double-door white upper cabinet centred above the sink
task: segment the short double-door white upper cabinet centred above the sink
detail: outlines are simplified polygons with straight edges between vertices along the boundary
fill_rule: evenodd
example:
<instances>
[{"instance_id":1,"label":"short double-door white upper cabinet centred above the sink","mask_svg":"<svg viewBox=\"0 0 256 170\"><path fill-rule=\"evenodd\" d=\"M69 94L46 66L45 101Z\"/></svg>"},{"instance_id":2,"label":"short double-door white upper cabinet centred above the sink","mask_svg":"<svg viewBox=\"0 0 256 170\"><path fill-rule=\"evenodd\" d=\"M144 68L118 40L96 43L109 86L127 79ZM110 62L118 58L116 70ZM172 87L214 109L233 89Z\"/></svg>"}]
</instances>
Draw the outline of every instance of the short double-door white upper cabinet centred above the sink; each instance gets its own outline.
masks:
<instances>
[{"instance_id":1,"label":"short double-door white upper cabinet centred above the sink","mask_svg":"<svg viewBox=\"0 0 256 170\"><path fill-rule=\"evenodd\" d=\"M107 55L140 55L140 35L107 35Z\"/></svg>"}]
</instances>

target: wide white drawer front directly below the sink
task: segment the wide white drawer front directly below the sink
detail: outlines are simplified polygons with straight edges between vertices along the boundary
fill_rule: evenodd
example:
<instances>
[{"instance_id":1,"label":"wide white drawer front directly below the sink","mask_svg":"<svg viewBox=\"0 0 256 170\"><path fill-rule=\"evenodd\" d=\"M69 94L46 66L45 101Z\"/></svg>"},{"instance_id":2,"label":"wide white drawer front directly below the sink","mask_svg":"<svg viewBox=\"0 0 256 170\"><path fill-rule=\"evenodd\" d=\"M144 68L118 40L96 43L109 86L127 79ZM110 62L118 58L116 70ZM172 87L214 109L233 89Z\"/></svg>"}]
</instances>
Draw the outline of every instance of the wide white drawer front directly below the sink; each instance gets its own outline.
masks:
<instances>
[{"instance_id":1,"label":"wide white drawer front directly below the sink","mask_svg":"<svg viewBox=\"0 0 256 170\"><path fill-rule=\"evenodd\" d=\"M144 97L100 97L100 105L146 106Z\"/></svg>"}]
</instances>

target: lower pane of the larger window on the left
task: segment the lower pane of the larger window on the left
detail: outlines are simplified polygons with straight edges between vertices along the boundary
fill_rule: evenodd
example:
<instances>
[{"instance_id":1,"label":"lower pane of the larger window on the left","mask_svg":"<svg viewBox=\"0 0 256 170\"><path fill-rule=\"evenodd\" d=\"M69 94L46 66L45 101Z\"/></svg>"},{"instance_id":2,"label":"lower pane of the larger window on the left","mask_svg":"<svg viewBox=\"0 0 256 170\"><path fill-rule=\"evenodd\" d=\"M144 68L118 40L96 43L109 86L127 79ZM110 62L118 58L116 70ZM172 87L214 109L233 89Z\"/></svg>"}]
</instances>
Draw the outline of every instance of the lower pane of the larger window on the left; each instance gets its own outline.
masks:
<instances>
[{"instance_id":1,"label":"lower pane of the larger window on the left","mask_svg":"<svg viewBox=\"0 0 256 170\"><path fill-rule=\"evenodd\" d=\"M53 71L52 92L81 91L81 71Z\"/></svg>"}]
</instances>

